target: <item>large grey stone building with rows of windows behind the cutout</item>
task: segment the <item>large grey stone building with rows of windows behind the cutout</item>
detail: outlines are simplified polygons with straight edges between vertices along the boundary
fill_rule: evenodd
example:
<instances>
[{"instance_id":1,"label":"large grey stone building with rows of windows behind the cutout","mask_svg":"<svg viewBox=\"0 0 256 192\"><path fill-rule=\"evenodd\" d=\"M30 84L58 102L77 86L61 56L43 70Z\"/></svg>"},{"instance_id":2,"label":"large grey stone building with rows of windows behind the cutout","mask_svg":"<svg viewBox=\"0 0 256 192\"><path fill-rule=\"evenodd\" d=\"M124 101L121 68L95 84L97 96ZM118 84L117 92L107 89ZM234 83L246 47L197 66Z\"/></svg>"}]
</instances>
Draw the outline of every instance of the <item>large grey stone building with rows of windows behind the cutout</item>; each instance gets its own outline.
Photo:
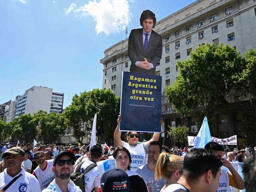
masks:
<instances>
[{"instance_id":1,"label":"large grey stone building with rows of windows behind the cutout","mask_svg":"<svg viewBox=\"0 0 256 192\"><path fill-rule=\"evenodd\" d=\"M177 61L189 58L191 51L207 42L229 44L241 55L250 48L255 49L256 0L197 0L158 21L153 30L162 36L163 41L162 59L156 66L156 75L162 76L162 116L165 124L175 122L196 127L197 117L181 120L164 95L166 86L172 85L178 76ZM104 66L102 88L111 89L119 97L122 71L130 70L127 49L128 38L107 48L104 58L100 60ZM234 91L227 96L227 100L231 103L246 102L248 98L242 98ZM238 132L239 129L234 128L238 119L236 115L231 112L223 115L223 124L220 124L222 132Z\"/></svg>"}]
</instances>

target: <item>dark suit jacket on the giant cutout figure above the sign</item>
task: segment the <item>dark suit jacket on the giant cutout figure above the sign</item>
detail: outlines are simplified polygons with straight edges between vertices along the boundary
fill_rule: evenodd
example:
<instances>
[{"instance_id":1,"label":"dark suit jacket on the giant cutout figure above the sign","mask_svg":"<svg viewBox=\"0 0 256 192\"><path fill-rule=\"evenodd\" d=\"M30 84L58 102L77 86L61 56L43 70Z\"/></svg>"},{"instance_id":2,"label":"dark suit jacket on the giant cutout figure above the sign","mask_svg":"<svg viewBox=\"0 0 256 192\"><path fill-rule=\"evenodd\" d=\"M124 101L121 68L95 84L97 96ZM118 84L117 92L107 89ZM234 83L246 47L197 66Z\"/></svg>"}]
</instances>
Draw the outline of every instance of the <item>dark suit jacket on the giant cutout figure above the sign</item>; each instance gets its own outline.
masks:
<instances>
[{"instance_id":1,"label":"dark suit jacket on the giant cutout figure above the sign","mask_svg":"<svg viewBox=\"0 0 256 192\"><path fill-rule=\"evenodd\" d=\"M162 37L152 30L149 43L144 51L142 34L143 29L133 29L129 36L128 56L132 62L130 72L155 75L155 66L162 57ZM138 61L139 54L150 59L150 62L154 65L154 68L147 70L137 67L135 62Z\"/></svg>"}]
</instances>

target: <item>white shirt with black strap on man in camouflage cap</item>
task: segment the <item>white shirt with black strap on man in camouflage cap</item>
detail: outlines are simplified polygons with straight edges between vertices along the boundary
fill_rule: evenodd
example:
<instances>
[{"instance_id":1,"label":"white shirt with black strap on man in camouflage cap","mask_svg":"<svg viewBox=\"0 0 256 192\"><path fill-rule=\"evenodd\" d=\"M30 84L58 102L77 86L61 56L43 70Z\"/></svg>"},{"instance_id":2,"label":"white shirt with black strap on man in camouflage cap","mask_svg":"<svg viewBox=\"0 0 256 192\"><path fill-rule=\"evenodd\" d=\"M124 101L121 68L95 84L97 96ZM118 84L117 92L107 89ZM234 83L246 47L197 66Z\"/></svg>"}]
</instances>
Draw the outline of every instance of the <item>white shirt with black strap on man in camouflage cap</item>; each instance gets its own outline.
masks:
<instances>
[{"instance_id":1,"label":"white shirt with black strap on man in camouflage cap","mask_svg":"<svg viewBox=\"0 0 256 192\"><path fill-rule=\"evenodd\" d=\"M37 181L37 178L26 172L23 168L21 168L21 171L15 175L14 177L18 176L19 174L22 174L16 181L14 181L11 186L5 190L5 192L36 192L41 191L39 182ZM7 173L7 168L0 173L0 189L3 189L8 183L11 182L11 180L14 178L11 177Z\"/></svg>"}]
</instances>

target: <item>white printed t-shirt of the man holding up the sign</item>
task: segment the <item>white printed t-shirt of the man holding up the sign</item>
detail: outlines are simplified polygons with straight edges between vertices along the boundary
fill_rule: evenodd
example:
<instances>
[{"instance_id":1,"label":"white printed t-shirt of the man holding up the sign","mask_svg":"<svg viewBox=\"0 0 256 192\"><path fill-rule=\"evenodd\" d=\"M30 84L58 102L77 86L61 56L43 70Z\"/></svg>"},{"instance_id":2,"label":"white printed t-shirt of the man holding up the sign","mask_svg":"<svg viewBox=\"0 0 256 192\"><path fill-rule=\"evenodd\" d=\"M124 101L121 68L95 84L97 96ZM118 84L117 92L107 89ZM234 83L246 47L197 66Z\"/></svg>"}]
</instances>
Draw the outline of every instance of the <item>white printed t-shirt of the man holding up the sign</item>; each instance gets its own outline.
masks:
<instances>
[{"instance_id":1,"label":"white printed t-shirt of the man holding up the sign","mask_svg":"<svg viewBox=\"0 0 256 192\"><path fill-rule=\"evenodd\" d=\"M137 145L129 145L128 143L122 141L122 146L128 149L131 154L131 171L136 172L138 167L146 164L148 142L142 142Z\"/></svg>"}]
</instances>

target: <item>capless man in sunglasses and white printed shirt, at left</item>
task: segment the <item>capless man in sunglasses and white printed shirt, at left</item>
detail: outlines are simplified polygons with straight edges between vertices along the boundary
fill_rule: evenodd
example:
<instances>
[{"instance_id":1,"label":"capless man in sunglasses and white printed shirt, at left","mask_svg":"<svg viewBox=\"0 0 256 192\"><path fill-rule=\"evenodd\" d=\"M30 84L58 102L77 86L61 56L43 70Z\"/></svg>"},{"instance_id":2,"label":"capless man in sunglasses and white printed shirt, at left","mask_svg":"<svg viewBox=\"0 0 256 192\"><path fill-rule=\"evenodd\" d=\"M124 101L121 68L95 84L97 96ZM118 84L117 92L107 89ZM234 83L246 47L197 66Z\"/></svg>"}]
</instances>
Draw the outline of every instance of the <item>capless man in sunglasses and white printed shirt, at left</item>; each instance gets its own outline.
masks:
<instances>
[{"instance_id":1,"label":"capless man in sunglasses and white printed shirt, at left","mask_svg":"<svg viewBox=\"0 0 256 192\"><path fill-rule=\"evenodd\" d=\"M55 178L52 171L54 159L45 160L43 151L38 151L34 154L36 163L38 164L32 173L39 181L41 190L45 189L48 184Z\"/></svg>"}]
</instances>

